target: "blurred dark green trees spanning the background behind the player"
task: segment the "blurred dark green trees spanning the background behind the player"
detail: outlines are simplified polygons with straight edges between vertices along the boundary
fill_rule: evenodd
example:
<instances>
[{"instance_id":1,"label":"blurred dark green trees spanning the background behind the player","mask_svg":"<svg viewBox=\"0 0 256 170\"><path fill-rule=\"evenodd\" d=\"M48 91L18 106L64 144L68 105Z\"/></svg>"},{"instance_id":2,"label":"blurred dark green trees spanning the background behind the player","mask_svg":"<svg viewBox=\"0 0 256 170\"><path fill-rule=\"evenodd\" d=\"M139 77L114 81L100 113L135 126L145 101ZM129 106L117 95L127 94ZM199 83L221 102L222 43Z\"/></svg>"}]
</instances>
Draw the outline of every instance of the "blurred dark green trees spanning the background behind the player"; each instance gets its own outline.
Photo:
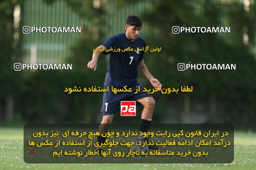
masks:
<instances>
[{"instance_id":1,"label":"blurred dark green trees spanning the background behind the player","mask_svg":"<svg viewBox=\"0 0 256 170\"><path fill-rule=\"evenodd\" d=\"M51 5L56 0L44 0ZM100 55L97 70L87 68L92 49L105 41L105 4L113 0L67 0L69 6L84 19L93 21L71 47L67 59L73 69L62 71L14 71L13 63L21 61L22 34L13 46L13 10L15 3L0 1L1 45L1 121L23 122L99 122L102 93L64 92L65 87L102 86L107 59ZM244 10L238 1L216 3L213 0L145 0L153 3L152 12L144 12L141 19L150 25L147 45L161 46L159 53L146 53L145 63L163 87L179 88L193 85L193 92L178 94L154 93L156 100L154 122L229 122L237 127L255 128L256 72L252 47L255 47L255 4ZM14 3L15 2L15 3ZM118 6L136 3L119 0ZM117 6L117 7L118 7ZM198 14L195 12L201 6ZM223 25L223 6L229 25ZM21 20L22 23L22 20ZM125 24L125 21L119 24ZM22 25L22 24L21 24ZM172 34L172 26L230 26L230 33ZM21 28L20 28L21 29ZM21 32L21 30L19 30ZM143 31L143 27L142 27ZM249 39L243 41L244 32ZM236 70L178 71L184 63L236 63ZM3 72L3 73L2 73ZM140 74L140 73L139 73ZM139 75L145 87L150 82ZM142 107L136 117L114 116L116 122L139 122ZM196 119L196 120L195 120Z\"/></svg>"}]
</instances>

